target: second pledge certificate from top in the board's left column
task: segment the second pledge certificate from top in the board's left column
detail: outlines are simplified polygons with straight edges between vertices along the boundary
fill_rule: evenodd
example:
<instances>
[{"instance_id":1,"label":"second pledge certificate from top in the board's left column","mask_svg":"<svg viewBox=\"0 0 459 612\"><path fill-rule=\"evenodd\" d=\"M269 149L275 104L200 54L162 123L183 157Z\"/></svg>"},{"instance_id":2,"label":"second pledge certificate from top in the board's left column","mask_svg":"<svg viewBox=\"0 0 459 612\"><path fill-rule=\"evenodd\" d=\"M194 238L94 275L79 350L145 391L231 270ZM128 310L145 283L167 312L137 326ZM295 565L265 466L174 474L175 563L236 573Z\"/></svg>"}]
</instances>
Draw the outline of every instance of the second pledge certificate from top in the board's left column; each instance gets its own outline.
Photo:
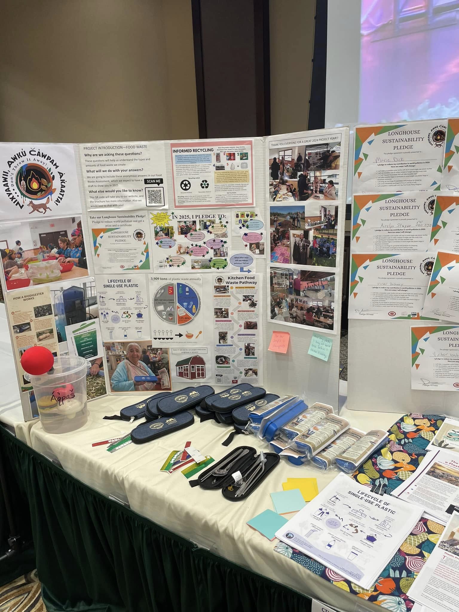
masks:
<instances>
[{"instance_id":1,"label":"second pledge certificate from top in the board's left column","mask_svg":"<svg viewBox=\"0 0 459 612\"><path fill-rule=\"evenodd\" d=\"M427 251L434 208L435 192L354 195L353 251Z\"/></svg>"}]
</instances>

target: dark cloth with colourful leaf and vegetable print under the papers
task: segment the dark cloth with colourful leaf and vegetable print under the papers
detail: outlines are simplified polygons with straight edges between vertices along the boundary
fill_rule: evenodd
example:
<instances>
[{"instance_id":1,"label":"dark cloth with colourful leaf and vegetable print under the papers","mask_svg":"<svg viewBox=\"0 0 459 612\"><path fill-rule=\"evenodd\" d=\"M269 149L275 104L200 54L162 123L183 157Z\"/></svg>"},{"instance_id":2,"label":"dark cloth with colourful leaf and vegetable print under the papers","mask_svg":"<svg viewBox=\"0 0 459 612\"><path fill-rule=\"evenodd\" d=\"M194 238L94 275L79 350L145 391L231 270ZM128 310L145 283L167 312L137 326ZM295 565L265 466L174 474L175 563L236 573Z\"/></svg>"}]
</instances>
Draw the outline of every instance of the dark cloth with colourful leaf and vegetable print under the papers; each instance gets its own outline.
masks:
<instances>
[{"instance_id":1,"label":"dark cloth with colourful leaf and vegetable print under the papers","mask_svg":"<svg viewBox=\"0 0 459 612\"><path fill-rule=\"evenodd\" d=\"M354 472L353 478L367 487L383 483L386 493L390 494L402 480L406 480L416 471L428 452L425 450L428 443L433 439L443 419L444 417L435 414L407 414L402 417L388 431L387 446L365 461L364 465ZM275 545L274 550L357 597L377 603L392 612L405 612L413 606L406 592L435 548L443 529L443 525L421 518L369 590L346 580L334 570L283 542Z\"/></svg>"}]
</instances>

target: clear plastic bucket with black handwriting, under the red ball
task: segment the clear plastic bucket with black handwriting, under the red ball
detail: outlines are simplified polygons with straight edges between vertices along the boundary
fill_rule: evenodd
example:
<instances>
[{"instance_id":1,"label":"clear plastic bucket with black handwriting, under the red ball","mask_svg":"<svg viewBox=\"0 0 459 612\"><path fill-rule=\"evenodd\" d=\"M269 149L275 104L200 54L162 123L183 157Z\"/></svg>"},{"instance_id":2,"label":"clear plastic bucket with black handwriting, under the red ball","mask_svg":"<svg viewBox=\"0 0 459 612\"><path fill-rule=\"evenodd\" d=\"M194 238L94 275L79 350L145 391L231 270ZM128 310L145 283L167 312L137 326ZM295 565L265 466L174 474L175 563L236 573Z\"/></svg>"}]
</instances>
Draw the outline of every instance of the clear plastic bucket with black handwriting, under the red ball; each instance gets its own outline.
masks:
<instances>
[{"instance_id":1,"label":"clear plastic bucket with black handwriting, under the red ball","mask_svg":"<svg viewBox=\"0 0 459 612\"><path fill-rule=\"evenodd\" d=\"M29 375L45 431L75 431L88 420L86 368L83 357L55 357L53 370Z\"/></svg>"}]
</instances>

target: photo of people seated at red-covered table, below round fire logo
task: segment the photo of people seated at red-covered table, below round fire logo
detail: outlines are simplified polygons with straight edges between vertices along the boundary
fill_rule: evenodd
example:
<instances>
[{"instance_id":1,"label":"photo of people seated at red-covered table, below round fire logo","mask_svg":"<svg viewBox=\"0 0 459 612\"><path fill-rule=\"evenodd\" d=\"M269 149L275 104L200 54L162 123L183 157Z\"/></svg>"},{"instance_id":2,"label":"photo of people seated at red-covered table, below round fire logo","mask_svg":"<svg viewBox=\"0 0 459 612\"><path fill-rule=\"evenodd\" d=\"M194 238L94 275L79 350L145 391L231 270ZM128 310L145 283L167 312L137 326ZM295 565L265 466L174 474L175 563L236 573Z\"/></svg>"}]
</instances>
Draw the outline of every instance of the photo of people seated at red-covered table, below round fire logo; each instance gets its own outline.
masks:
<instances>
[{"instance_id":1,"label":"photo of people seated at red-covered table, below round fire logo","mask_svg":"<svg viewBox=\"0 0 459 612\"><path fill-rule=\"evenodd\" d=\"M81 217L4 225L0 244L8 290L88 276Z\"/></svg>"}]
</instances>

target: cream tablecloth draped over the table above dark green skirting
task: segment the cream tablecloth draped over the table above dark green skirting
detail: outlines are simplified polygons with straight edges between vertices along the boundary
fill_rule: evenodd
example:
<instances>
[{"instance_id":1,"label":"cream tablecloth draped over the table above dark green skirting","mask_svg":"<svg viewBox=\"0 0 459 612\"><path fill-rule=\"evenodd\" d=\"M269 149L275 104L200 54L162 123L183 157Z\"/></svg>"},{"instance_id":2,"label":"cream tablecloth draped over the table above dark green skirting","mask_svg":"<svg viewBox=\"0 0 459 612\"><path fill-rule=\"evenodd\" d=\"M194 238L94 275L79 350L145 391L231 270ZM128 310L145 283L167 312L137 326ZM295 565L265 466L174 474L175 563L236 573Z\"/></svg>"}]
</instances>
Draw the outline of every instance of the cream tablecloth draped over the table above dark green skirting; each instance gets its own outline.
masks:
<instances>
[{"instance_id":1,"label":"cream tablecloth draped over the table above dark green skirting","mask_svg":"<svg viewBox=\"0 0 459 612\"><path fill-rule=\"evenodd\" d=\"M230 446L222 446L231 428L210 420L200 423L197 417L191 427L154 442L129 444L115 453L108 453L105 446L92 447L92 442L113 438L139 424L102 419L119 412L130 401L130 398L112 396L91 402L88 424L72 433L51 435L43 431L40 423L35 424L31 429L32 447L38 452L55 455L69 474L90 487L107 495L124 494L135 512L200 547L322 600L336 610L380 610L375 604L338 589L291 559L275 553L276 540L269 542L246 524L263 510L272 509L269 494L282 491L282 482L288 477L316 477L319 490L322 490L337 472L293 466L283 459L249 498L241 502L227 501L221 491L192 488L180 472L163 473L160 466L171 450L183 449L188 440L201 453L212 455L215 460L237 446L264 450L269 447L254 436L242 435L235 436ZM351 425L365 431L387 429L398 417L394 413L356 412L346 408L341 409L340 414L348 418Z\"/></svg>"}]
</instances>

